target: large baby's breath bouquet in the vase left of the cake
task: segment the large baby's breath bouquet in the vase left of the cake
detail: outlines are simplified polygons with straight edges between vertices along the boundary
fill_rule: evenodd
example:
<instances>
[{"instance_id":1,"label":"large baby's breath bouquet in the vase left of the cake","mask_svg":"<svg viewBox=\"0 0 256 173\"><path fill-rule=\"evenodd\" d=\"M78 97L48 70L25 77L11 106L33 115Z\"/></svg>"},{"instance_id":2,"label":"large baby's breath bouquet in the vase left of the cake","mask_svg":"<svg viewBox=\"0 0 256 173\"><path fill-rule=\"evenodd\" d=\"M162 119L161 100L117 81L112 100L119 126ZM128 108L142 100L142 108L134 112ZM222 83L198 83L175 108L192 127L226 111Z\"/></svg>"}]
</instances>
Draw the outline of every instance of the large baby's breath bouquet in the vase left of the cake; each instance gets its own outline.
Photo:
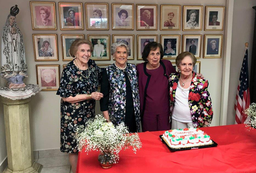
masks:
<instances>
[{"instance_id":1,"label":"large baby's breath bouquet in the vase left of the cake","mask_svg":"<svg viewBox=\"0 0 256 173\"><path fill-rule=\"evenodd\" d=\"M122 149L132 147L136 154L137 149L142 146L137 133L129 134L124 123L117 126L107 123L102 115L96 115L94 119L88 120L85 127L78 127L76 141L79 151L85 148L88 154L91 150L100 150L108 153L113 163L118 162Z\"/></svg>"}]
</instances>

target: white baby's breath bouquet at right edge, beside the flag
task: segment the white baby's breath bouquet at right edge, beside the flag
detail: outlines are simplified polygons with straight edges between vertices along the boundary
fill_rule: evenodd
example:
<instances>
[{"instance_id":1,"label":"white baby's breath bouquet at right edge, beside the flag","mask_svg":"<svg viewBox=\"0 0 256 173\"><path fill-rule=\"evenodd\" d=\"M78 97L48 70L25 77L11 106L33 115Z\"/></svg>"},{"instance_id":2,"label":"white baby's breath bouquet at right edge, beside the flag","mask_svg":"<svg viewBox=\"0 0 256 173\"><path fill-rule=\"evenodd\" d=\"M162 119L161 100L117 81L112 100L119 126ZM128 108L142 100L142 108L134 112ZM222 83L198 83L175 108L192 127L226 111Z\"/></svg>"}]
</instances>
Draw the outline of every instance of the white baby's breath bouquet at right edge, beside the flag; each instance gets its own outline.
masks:
<instances>
[{"instance_id":1,"label":"white baby's breath bouquet at right edge, beside the flag","mask_svg":"<svg viewBox=\"0 0 256 173\"><path fill-rule=\"evenodd\" d=\"M244 124L246 124L247 127L256 129L256 103L252 103L244 110L244 113L248 116Z\"/></svg>"}]
</instances>

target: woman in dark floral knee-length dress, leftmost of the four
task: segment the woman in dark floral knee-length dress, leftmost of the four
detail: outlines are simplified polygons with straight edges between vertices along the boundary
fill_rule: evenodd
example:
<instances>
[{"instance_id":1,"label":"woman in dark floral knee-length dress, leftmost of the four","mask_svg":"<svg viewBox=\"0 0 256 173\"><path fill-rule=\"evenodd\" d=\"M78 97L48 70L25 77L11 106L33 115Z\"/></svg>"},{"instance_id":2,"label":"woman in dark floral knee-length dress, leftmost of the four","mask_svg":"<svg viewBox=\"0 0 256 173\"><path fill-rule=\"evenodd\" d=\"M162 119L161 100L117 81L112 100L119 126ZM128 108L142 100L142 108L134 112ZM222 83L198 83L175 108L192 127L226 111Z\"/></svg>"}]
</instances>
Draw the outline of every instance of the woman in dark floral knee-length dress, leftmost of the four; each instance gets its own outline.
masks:
<instances>
[{"instance_id":1,"label":"woman in dark floral knee-length dress, leftmost of the four","mask_svg":"<svg viewBox=\"0 0 256 173\"><path fill-rule=\"evenodd\" d=\"M97 92L102 71L90 59L92 43L85 39L76 39L70 46L70 55L74 58L63 69L57 95L61 98L61 151L69 153L72 171L76 170L77 143L76 127L85 125L95 116L95 100L103 97Z\"/></svg>"}]
</instances>

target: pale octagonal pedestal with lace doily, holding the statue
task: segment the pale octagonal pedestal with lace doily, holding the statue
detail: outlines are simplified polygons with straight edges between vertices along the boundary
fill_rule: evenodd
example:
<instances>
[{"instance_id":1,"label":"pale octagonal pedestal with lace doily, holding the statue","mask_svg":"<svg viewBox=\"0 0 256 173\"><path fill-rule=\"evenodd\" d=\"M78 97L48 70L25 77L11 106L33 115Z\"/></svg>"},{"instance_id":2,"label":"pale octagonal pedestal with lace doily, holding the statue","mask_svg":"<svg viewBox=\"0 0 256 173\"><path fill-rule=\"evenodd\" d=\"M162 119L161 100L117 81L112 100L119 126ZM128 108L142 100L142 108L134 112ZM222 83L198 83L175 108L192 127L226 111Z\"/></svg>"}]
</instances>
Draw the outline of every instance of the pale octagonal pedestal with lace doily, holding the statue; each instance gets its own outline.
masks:
<instances>
[{"instance_id":1,"label":"pale octagonal pedestal with lace doily, holding the statue","mask_svg":"<svg viewBox=\"0 0 256 173\"><path fill-rule=\"evenodd\" d=\"M4 104L4 122L7 146L8 167L4 173L40 173L43 165L34 162L29 124L29 102L31 96L41 89L35 85L13 89L18 99L2 95L6 90L0 87L1 101ZM29 91L29 92L28 92ZM34 94L31 94L34 93ZM12 92L13 93L13 92ZM30 93L29 96L25 93ZM22 94L22 96L21 96ZM9 94L10 95L10 94ZM21 98L21 99L20 99Z\"/></svg>"}]
</instances>

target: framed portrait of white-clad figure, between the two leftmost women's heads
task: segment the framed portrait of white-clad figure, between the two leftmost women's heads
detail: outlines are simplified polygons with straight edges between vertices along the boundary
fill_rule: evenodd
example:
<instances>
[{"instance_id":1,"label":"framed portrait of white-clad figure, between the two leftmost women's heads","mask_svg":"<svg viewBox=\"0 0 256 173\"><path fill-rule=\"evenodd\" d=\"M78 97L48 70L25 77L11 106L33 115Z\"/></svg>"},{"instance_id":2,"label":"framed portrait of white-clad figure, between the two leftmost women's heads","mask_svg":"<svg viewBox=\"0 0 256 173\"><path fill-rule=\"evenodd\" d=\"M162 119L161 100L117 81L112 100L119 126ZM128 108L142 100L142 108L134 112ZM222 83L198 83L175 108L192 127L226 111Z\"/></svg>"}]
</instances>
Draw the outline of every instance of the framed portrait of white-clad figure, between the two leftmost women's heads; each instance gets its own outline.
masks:
<instances>
[{"instance_id":1,"label":"framed portrait of white-clad figure, between the two leftmost women's heads","mask_svg":"<svg viewBox=\"0 0 256 173\"><path fill-rule=\"evenodd\" d=\"M110 60L110 35L87 35L87 39L92 42L93 52L91 59L95 61Z\"/></svg>"}]
</instances>

